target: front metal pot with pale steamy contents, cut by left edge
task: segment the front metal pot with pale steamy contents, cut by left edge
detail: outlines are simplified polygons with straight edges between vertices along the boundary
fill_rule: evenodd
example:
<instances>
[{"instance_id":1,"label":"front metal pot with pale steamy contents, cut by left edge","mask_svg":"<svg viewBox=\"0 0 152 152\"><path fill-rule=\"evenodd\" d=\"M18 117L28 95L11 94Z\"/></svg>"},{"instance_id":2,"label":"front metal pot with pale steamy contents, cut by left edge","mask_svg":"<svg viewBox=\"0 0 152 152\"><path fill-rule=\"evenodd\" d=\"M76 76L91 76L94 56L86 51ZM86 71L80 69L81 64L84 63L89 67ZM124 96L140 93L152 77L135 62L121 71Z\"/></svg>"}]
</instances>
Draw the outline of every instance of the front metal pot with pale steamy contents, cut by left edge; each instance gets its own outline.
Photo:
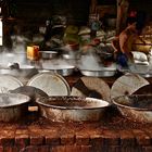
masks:
<instances>
[{"instance_id":1,"label":"front metal pot with pale steamy contents, cut by left edge","mask_svg":"<svg viewBox=\"0 0 152 152\"><path fill-rule=\"evenodd\" d=\"M18 93L0 93L0 121L18 121L28 111L30 98Z\"/></svg>"}]
</instances>

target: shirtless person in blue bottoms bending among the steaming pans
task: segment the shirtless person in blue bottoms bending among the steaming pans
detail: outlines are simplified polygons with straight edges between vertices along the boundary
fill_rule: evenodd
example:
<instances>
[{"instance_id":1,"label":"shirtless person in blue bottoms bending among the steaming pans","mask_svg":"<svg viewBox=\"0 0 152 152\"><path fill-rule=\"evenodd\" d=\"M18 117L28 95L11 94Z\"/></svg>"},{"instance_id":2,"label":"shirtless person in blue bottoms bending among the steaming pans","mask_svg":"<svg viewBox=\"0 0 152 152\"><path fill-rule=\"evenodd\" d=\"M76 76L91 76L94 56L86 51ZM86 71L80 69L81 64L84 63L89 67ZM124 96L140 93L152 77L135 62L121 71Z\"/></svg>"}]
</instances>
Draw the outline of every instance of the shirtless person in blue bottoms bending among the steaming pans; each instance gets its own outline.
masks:
<instances>
[{"instance_id":1,"label":"shirtless person in blue bottoms bending among the steaming pans","mask_svg":"<svg viewBox=\"0 0 152 152\"><path fill-rule=\"evenodd\" d=\"M140 41L145 45L145 42L139 37L136 18L129 17L127 23L127 27L112 41L115 60L123 67L128 67L128 63L134 62L131 51L136 39L140 39Z\"/></svg>"}]
</instances>

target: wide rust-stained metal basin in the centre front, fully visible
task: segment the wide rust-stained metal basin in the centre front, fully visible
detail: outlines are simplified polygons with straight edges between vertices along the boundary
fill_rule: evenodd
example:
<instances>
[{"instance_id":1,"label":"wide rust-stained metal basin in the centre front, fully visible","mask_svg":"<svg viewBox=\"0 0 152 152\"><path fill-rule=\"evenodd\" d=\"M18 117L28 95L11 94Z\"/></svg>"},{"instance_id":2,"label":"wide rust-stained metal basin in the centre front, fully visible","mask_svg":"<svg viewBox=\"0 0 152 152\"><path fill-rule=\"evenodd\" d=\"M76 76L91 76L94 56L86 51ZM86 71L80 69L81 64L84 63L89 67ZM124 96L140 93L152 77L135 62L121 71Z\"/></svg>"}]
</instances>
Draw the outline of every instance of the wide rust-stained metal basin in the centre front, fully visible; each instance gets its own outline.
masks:
<instances>
[{"instance_id":1,"label":"wide rust-stained metal basin in the centre front, fully visible","mask_svg":"<svg viewBox=\"0 0 152 152\"><path fill-rule=\"evenodd\" d=\"M41 115L53 122L100 121L109 102L94 98L50 97L37 99Z\"/></svg>"}]
</instances>

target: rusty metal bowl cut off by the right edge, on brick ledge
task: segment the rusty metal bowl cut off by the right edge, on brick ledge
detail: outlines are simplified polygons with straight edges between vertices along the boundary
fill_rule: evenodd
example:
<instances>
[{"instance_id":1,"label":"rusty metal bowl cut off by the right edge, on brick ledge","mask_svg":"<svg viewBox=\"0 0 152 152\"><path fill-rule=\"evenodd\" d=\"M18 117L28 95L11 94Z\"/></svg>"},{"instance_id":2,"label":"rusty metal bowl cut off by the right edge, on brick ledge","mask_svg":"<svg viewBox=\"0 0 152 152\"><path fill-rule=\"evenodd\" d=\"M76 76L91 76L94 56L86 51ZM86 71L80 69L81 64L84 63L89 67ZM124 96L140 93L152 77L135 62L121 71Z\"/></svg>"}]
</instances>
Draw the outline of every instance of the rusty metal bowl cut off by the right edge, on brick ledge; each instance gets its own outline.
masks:
<instances>
[{"instance_id":1,"label":"rusty metal bowl cut off by the right edge, on brick ledge","mask_svg":"<svg viewBox=\"0 0 152 152\"><path fill-rule=\"evenodd\" d=\"M152 94L121 96L113 99L123 116L141 123L152 123Z\"/></svg>"}]
</instances>

